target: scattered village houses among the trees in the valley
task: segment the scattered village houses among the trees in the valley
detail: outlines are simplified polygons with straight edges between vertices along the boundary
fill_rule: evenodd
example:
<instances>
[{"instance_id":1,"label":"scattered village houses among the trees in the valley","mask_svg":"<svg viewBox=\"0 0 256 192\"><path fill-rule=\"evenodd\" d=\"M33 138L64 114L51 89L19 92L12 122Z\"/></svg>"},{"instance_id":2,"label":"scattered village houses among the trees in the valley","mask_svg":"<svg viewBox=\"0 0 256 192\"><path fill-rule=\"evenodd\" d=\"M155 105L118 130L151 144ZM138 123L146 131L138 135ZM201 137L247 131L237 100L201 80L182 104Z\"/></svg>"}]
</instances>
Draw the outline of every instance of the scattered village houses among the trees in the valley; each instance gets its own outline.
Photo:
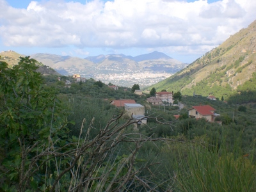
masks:
<instances>
[{"instance_id":1,"label":"scattered village houses among the trees in the valley","mask_svg":"<svg viewBox=\"0 0 256 192\"><path fill-rule=\"evenodd\" d=\"M74 83L85 83L86 78L81 77L79 74L74 74L72 81ZM58 81L61 81L61 77L58 77ZM69 80L65 81L65 87L70 88L70 84L72 84ZM108 85L108 88L112 90L118 90L123 89L124 92L128 91L128 88L116 86L116 85ZM166 92L166 90L163 90L161 92L154 92L151 94L143 93L142 90L134 90L135 95L139 95L140 97L143 96L144 100L143 102L147 102L150 104L150 106L177 106L177 108L183 109L184 104L179 102L179 99L181 100L181 95L179 98L173 98L174 93L173 92ZM198 95L194 95L194 97L197 97ZM201 96L201 95L199 95ZM202 97L202 96L201 96ZM206 97L209 100L217 100L214 95L209 95ZM225 101L224 101L225 102ZM116 106L116 108L124 108L125 113L127 115L131 116L134 119L135 127L138 127L138 125L147 125L147 116L145 115L145 106L136 103L134 99L114 99L110 100L109 104L112 104L113 106ZM207 120L207 122L214 122L216 116L220 117L220 114L215 113L216 109L212 108L209 105L202 106L192 106L192 108L188 109L188 116L190 118L204 118ZM180 117L180 115L173 115L176 119ZM218 124L221 125L221 122L218 121Z\"/></svg>"}]
</instances>

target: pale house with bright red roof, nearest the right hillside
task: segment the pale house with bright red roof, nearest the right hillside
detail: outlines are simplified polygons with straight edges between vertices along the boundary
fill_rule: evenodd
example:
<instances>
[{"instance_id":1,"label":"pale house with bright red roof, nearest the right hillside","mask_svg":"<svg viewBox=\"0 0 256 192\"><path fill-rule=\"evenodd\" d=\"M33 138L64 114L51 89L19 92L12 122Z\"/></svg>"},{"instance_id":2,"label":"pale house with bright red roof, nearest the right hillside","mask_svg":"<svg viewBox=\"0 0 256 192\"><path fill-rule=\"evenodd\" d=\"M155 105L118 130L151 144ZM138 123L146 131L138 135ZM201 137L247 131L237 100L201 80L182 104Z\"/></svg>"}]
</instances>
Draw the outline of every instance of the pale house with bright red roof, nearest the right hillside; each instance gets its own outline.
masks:
<instances>
[{"instance_id":1,"label":"pale house with bright red roof, nearest the right hillside","mask_svg":"<svg viewBox=\"0 0 256 192\"><path fill-rule=\"evenodd\" d=\"M216 109L212 108L209 105L205 106L193 106L188 110L189 117L193 118L205 118L209 122L214 122Z\"/></svg>"}]
</instances>

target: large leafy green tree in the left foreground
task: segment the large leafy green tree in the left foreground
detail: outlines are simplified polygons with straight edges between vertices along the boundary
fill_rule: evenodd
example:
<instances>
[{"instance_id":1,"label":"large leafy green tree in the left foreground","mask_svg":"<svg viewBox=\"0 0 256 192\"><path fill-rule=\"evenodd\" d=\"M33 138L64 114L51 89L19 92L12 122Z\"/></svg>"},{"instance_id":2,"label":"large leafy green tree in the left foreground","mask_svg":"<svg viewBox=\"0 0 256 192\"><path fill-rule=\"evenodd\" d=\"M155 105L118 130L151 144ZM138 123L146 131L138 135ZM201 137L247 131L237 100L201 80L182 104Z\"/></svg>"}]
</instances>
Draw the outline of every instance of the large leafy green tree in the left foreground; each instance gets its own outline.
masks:
<instances>
[{"instance_id":1,"label":"large leafy green tree in the left foreground","mask_svg":"<svg viewBox=\"0 0 256 192\"><path fill-rule=\"evenodd\" d=\"M54 174L51 168L42 172L42 166L49 164L45 160L52 159L54 148L66 148L61 139L67 137L67 111L57 92L44 88L37 68L36 60L29 56L21 57L13 68L0 62L0 180L4 180L0 191L36 191L42 180Z\"/></svg>"}]
</instances>

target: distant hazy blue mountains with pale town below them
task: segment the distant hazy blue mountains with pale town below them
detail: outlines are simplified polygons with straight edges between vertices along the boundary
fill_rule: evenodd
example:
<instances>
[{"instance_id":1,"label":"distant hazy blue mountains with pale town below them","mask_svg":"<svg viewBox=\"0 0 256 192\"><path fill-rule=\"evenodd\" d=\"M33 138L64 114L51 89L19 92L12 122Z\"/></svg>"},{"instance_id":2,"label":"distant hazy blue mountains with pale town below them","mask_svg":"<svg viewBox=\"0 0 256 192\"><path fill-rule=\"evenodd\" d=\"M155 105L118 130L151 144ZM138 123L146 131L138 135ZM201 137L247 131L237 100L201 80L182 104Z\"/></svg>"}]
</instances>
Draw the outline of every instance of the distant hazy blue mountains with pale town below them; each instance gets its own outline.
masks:
<instances>
[{"instance_id":1,"label":"distant hazy blue mountains with pale town below them","mask_svg":"<svg viewBox=\"0 0 256 192\"><path fill-rule=\"evenodd\" d=\"M64 76L80 74L103 83L128 87L135 83L140 84L141 87L150 86L188 65L157 51L135 57L124 54L101 54L76 58L38 53L31 55L31 58L54 68Z\"/></svg>"}]
</instances>

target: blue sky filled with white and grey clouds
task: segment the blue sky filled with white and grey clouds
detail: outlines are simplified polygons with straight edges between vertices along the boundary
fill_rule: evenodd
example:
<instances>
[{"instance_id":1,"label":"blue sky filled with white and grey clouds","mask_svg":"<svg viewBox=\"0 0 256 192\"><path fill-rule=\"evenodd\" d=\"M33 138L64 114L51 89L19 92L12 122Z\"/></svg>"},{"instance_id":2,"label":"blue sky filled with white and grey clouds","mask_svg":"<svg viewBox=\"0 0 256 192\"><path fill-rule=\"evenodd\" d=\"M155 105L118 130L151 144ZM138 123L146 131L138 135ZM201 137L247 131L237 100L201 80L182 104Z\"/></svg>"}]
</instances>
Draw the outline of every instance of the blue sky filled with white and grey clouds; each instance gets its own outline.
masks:
<instances>
[{"instance_id":1,"label":"blue sky filled with white and grey clouds","mask_svg":"<svg viewBox=\"0 0 256 192\"><path fill-rule=\"evenodd\" d=\"M192 63L256 20L255 0L0 0L1 51L153 51Z\"/></svg>"}]
</instances>

